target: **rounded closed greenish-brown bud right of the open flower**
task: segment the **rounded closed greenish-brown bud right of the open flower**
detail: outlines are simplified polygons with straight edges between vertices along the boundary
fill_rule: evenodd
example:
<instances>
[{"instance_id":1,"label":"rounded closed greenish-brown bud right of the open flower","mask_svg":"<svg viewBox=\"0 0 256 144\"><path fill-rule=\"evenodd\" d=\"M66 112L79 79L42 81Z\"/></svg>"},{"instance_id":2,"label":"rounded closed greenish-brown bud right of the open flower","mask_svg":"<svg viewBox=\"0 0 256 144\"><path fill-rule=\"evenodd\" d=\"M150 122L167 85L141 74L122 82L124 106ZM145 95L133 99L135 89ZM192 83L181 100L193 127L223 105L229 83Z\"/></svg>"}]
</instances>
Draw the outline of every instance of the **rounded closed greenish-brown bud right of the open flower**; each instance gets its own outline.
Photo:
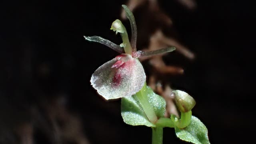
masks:
<instances>
[{"instance_id":1,"label":"rounded closed greenish-brown bud right of the open flower","mask_svg":"<svg viewBox=\"0 0 256 144\"><path fill-rule=\"evenodd\" d=\"M181 90L172 92L175 94L174 100L180 112L188 112L196 105L196 101L188 93Z\"/></svg>"}]
</instances>

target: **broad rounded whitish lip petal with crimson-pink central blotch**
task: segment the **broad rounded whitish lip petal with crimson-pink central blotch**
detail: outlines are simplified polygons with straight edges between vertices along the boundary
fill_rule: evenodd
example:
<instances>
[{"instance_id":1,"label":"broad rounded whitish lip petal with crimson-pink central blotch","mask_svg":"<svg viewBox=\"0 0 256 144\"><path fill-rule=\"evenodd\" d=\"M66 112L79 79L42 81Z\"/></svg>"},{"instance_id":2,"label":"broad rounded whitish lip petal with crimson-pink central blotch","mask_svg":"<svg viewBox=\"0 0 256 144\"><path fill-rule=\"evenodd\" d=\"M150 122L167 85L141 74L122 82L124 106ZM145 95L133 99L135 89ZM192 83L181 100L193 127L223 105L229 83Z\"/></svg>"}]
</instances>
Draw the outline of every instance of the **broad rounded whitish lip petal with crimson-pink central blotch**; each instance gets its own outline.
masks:
<instances>
[{"instance_id":1,"label":"broad rounded whitish lip petal with crimson-pink central blotch","mask_svg":"<svg viewBox=\"0 0 256 144\"><path fill-rule=\"evenodd\" d=\"M118 61L114 58L92 74L92 86L106 100L132 96L144 85L146 75L142 64L137 58L128 56L129 60L122 66L112 68Z\"/></svg>"}]
</instances>

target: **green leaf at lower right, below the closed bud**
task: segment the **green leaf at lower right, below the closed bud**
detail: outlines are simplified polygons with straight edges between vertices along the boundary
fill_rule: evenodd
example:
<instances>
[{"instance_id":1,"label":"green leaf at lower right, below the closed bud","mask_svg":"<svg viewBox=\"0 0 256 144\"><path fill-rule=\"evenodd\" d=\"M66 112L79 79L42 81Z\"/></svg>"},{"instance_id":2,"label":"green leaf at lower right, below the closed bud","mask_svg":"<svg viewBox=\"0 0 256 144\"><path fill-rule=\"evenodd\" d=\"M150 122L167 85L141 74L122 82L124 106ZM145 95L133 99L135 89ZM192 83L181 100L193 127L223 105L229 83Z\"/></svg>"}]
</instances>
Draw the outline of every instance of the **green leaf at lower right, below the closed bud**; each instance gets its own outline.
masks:
<instances>
[{"instance_id":1,"label":"green leaf at lower right, below the closed bud","mask_svg":"<svg viewBox=\"0 0 256 144\"><path fill-rule=\"evenodd\" d=\"M194 144L210 144L206 126L195 116L192 116L191 123L186 128L175 127L175 132L181 140Z\"/></svg>"}]
</instances>

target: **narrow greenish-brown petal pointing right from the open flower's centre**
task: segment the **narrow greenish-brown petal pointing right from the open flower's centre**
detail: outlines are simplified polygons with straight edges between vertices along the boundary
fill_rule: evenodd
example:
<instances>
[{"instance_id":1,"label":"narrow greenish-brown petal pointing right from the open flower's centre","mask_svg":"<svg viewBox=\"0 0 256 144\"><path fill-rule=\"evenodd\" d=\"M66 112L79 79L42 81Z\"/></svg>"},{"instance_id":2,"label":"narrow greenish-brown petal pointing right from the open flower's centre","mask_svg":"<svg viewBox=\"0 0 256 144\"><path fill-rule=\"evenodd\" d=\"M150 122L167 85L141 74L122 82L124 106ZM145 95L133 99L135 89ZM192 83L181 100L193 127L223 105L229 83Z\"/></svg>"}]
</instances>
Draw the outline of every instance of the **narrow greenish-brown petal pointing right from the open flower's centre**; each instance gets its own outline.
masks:
<instances>
[{"instance_id":1,"label":"narrow greenish-brown petal pointing right from the open flower's centre","mask_svg":"<svg viewBox=\"0 0 256 144\"><path fill-rule=\"evenodd\" d=\"M172 47L162 48L160 50L153 50L153 51L149 51L149 52L137 51L136 57L153 56L153 55L156 55L156 54L164 54L166 52L172 52L174 50L176 50L176 48L174 46L172 46Z\"/></svg>"}]
</instances>

